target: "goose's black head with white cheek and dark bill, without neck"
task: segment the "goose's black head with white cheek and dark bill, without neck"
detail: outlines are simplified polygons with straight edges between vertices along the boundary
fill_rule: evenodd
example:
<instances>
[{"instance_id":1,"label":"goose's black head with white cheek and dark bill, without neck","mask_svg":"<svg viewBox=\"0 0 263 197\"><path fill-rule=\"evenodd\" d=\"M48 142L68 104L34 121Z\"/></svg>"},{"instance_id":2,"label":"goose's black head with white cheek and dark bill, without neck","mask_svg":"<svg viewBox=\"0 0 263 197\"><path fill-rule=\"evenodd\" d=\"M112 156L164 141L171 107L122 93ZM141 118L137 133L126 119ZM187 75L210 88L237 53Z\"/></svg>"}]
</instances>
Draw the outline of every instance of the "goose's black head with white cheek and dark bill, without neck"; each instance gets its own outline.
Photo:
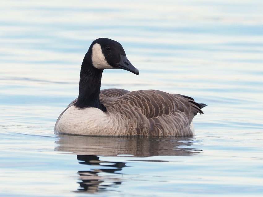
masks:
<instances>
[{"instance_id":1,"label":"goose's black head with white cheek and dark bill, without neck","mask_svg":"<svg viewBox=\"0 0 263 197\"><path fill-rule=\"evenodd\" d=\"M99 38L93 41L89 51L91 52L91 63L96 69L124 69L136 75L139 74L139 70L127 59L119 42L108 38Z\"/></svg>"}]
</instances>

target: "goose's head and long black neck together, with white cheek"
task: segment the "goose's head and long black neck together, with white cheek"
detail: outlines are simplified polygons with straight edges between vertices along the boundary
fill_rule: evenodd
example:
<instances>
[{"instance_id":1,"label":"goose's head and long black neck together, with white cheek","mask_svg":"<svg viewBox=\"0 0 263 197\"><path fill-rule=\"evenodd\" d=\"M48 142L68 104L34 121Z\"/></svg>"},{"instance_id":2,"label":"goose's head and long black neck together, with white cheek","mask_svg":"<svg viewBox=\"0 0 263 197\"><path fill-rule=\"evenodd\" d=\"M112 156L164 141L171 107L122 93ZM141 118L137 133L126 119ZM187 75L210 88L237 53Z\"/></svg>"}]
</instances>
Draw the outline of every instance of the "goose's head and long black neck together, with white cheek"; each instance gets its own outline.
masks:
<instances>
[{"instance_id":1,"label":"goose's head and long black neck together, with white cheek","mask_svg":"<svg viewBox=\"0 0 263 197\"><path fill-rule=\"evenodd\" d=\"M99 99L104 69L124 69L139 74L139 70L127 59L121 44L108 38L94 40L81 65L79 97L75 107L96 107L106 111Z\"/></svg>"}]
</instances>

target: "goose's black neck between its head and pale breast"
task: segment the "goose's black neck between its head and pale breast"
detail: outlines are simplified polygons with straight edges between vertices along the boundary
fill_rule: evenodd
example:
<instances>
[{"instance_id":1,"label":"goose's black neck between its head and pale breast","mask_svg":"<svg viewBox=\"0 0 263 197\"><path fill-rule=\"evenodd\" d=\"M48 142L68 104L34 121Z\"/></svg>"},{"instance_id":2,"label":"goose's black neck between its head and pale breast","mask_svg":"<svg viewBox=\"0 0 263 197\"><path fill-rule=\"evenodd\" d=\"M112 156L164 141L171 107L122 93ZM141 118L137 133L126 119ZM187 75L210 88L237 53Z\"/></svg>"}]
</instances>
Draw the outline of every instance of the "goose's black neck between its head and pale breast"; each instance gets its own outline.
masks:
<instances>
[{"instance_id":1,"label":"goose's black neck between its head and pale breast","mask_svg":"<svg viewBox=\"0 0 263 197\"><path fill-rule=\"evenodd\" d=\"M106 108L100 103L102 71L93 67L87 53L81 65L79 97L74 106L78 108L96 107L102 111Z\"/></svg>"}]
</instances>

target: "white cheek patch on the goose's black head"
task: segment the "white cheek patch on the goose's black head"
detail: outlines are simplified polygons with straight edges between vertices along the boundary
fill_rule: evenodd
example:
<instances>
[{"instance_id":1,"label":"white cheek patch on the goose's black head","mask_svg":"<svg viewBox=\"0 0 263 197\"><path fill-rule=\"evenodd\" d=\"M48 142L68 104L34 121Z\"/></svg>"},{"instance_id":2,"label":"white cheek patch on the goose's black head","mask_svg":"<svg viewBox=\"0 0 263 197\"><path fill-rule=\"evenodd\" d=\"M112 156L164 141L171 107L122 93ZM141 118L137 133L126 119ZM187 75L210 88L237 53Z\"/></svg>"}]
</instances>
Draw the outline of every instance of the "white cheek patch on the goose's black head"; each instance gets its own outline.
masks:
<instances>
[{"instance_id":1,"label":"white cheek patch on the goose's black head","mask_svg":"<svg viewBox=\"0 0 263 197\"><path fill-rule=\"evenodd\" d=\"M105 59L102 53L101 45L96 43L92 47L91 61L95 68L97 69L113 69Z\"/></svg>"}]
</instances>

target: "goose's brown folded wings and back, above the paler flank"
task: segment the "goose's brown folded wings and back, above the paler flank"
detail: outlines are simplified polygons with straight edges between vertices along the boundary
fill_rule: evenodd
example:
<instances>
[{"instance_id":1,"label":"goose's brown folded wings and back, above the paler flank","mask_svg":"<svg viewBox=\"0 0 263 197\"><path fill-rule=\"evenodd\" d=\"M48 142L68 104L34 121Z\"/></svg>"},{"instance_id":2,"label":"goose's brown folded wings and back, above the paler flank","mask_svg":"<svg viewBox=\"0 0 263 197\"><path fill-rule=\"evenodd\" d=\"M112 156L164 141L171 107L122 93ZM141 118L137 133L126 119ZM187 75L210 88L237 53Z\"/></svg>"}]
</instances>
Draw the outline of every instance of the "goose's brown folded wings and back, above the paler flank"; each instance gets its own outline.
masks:
<instances>
[{"instance_id":1,"label":"goose's brown folded wings and back, above the paler flank","mask_svg":"<svg viewBox=\"0 0 263 197\"><path fill-rule=\"evenodd\" d=\"M176 111L184 112L191 119L197 114L203 114L201 106L194 99L180 94L169 94L159 90L138 90L129 92L123 89L101 90L101 104L117 105L129 103L138 108L147 118L169 115Z\"/></svg>"}]
</instances>

